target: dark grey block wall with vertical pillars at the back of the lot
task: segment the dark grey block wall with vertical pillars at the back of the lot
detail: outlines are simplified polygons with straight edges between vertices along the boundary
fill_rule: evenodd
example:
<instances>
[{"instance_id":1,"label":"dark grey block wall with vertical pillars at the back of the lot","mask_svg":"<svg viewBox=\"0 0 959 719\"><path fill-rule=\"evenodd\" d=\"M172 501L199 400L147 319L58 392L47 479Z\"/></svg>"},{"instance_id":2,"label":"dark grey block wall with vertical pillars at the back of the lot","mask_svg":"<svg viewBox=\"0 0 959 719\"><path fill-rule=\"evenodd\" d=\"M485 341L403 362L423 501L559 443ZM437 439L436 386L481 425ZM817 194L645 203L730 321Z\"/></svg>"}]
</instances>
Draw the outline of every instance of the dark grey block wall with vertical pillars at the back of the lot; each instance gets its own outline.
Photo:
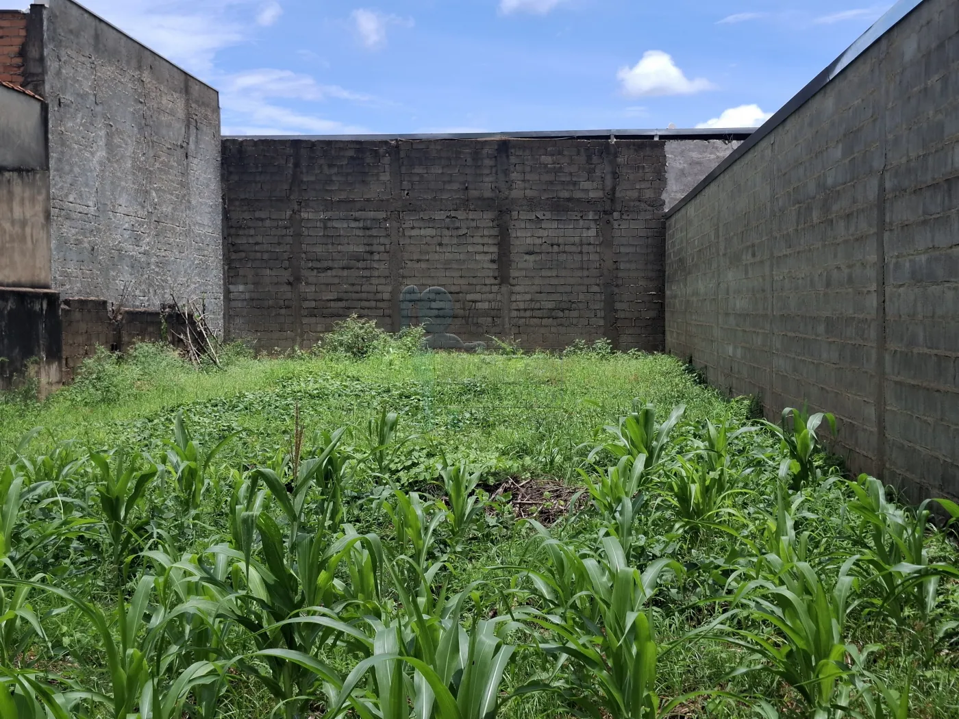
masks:
<instances>
[{"instance_id":1,"label":"dark grey block wall with vertical pillars at the back of the lot","mask_svg":"<svg viewBox=\"0 0 959 719\"><path fill-rule=\"evenodd\" d=\"M666 146L225 139L229 335L309 345L350 313L393 330L415 314L436 346L660 350Z\"/></svg>"}]
</instances>

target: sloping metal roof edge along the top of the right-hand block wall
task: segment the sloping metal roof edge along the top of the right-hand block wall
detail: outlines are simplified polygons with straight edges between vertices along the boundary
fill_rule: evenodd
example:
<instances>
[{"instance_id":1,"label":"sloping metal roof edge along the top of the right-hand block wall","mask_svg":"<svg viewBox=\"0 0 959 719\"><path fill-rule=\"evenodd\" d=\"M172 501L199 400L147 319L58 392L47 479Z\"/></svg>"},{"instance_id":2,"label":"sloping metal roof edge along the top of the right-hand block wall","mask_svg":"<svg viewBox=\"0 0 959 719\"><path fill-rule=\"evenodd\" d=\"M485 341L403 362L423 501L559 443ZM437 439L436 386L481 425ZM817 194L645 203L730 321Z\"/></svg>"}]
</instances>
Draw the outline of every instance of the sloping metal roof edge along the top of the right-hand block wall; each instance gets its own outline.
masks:
<instances>
[{"instance_id":1,"label":"sloping metal roof edge along the top of the right-hand block wall","mask_svg":"<svg viewBox=\"0 0 959 719\"><path fill-rule=\"evenodd\" d=\"M859 35L858 39L856 39L856 41L850 45L842 55L840 55L838 58L835 58L830 63L829 67L819 73L819 75L813 78L812 81L808 82L806 87L796 93L796 95L794 95L786 104L784 104L778 112L766 120L766 122L763 123L759 129L750 135L749 138L742 143L742 145L737 147L737 149L732 151L726 157L726 159L720 162L713 169L713 172L703 177L699 184L692 188L685 197L669 208L665 216L666 219L668 220L677 212L679 212L690 201L690 199L699 195L699 193L701 193L707 185L713 182L716 177L726 172L727 168L735 163L740 157L758 145L762 138L782 125L786 118L806 104L813 95L823 89L823 87L829 84L830 81L832 81L839 73L845 70L855 58L858 58L860 55L866 52L866 50L872 47L882 35L885 35L892 30L902 19L906 17L906 15L916 10L916 8L922 5L923 2L924 0L899 0L899 2L896 3L896 5L889 10L889 12L886 12L884 15L882 15L882 17L880 17L872 25L872 27L869 28L869 30L862 35Z\"/></svg>"}]
</instances>

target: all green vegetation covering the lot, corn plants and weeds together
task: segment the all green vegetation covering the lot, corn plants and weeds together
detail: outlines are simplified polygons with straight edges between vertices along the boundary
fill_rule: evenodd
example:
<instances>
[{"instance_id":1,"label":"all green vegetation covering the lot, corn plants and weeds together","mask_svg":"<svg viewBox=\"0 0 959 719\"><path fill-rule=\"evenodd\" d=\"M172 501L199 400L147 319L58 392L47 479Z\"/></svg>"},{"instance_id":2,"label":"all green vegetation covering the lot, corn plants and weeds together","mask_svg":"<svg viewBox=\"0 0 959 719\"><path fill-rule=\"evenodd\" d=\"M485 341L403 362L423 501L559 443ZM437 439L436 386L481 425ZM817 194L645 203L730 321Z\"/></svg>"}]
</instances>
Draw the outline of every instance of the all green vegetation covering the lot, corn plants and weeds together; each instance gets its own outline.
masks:
<instances>
[{"instance_id":1,"label":"all green vegetation covering the lot, corn plants and weeds together","mask_svg":"<svg viewBox=\"0 0 959 719\"><path fill-rule=\"evenodd\" d=\"M959 508L842 475L828 415L416 345L0 402L0 719L959 715Z\"/></svg>"}]
</instances>

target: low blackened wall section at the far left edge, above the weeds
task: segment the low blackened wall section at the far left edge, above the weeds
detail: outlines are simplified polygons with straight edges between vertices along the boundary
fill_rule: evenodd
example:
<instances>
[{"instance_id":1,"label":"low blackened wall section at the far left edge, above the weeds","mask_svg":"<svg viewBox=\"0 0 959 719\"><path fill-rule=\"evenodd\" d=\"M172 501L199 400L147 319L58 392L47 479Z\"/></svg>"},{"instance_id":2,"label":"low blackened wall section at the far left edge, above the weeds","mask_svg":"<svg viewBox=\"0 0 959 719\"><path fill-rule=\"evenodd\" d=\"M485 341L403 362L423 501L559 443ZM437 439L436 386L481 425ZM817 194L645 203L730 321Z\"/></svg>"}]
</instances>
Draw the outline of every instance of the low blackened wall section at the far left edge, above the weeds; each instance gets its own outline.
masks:
<instances>
[{"instance_id":1,"label":"low blackened wall section at the far left edge, above the weeds","mask_svg":"<svg viewBox=\"0 0 959 719\"><path fill-rule=\"evenodd\" d=\"M24 377L31 360L44 394L60 383L59 296L0 287L0 389Z\"/></svg>"}]
</instances>

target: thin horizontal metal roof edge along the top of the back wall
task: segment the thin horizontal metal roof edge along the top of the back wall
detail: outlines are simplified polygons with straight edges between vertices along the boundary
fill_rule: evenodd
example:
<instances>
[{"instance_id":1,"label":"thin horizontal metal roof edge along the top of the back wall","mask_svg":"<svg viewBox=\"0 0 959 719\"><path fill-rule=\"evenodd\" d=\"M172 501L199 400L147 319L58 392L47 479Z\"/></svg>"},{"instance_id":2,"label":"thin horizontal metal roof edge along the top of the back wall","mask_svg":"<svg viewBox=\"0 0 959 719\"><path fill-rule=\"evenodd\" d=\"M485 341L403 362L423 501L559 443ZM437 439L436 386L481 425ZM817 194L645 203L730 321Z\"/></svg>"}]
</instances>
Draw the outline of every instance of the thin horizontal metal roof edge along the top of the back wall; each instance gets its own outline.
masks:
<instances>
[{"instance_id":1,"label":"thin horizontal metal roof edge along the top of the back wall","mask_svg":"<svg viewBox=\"0 0 959 719\"><path fill-rule=\"evenodd\" d=\"M551 138L621 140L745 140L755 128L576 129L530 132L436 132L395 135L223 135L224 140L535 140Z\"/></svg>"}]
</instances>

